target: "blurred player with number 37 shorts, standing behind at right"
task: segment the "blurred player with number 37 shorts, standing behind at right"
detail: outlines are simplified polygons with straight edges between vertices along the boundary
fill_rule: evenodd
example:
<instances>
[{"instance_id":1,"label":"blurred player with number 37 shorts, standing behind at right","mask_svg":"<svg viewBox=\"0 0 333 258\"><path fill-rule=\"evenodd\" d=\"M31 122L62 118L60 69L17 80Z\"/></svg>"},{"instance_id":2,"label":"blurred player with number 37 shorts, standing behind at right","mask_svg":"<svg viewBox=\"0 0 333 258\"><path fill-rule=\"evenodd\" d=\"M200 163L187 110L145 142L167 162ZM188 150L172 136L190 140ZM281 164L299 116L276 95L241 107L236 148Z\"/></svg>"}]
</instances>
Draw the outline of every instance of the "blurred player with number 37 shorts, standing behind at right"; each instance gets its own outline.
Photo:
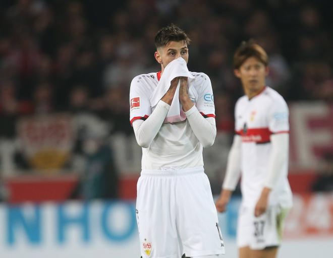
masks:
<instances>
[{"instance_id":1,"label":"blurred player with number 37 shorts, standing behind at right","mask_svg":"<svg viewBox=\"0 0 333 258\"><path fill-rule=\"evenodd\" d=\"M243 42L235 52L234 68L245 95L236 103L236 135L216 208L219 212L226 210L242 172L239 257L273 258L281 244L284 218L292 206L287 179L288 106L265 84L268 57L261 46Z\"/></svg>"}]
</instances>

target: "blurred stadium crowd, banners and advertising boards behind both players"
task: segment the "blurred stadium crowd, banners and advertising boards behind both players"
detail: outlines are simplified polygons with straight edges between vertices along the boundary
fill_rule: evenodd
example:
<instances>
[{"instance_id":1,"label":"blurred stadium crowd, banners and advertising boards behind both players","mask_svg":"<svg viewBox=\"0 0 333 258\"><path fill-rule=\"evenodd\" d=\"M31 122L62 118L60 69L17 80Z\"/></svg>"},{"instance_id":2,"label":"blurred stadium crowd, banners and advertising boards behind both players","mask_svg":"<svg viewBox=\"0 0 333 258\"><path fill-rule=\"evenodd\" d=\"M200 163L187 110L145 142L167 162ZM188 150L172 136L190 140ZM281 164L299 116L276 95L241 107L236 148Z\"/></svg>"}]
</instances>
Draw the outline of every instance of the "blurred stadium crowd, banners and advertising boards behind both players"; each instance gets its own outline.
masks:
<instances>
[{"instance_id":1,"label":"blurred stadium crowd, banners and advertising boards behind both players","mask_svg":"<svg viewBox=\"0 0 333 258\"><path fill-rule=\"evenodd\" d=\"M330 1L0 2L0 257L139 257L134 216L141 150L129 87L159 71L153 39L175 23L188 67L209 75L217 137L204 150L217 194L242 95L232 54L255 39L267 85L290 107L294 209L279 257L333 253L333 19ZM239 192L220 225L236 257Z\"/></svg>"}]
</instances>

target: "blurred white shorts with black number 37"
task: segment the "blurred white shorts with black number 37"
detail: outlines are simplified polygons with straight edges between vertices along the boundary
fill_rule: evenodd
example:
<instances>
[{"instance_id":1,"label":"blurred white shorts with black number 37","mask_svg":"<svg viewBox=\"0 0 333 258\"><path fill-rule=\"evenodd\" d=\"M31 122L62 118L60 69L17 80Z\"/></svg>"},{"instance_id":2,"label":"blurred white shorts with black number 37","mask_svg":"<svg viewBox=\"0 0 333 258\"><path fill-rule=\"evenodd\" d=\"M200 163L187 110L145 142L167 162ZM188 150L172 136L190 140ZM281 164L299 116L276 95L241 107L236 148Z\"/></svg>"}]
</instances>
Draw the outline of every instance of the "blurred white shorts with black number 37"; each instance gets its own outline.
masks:
<instances>
[{"instance_id":1,"label":"blurred white shorts with black number 37","mask_svg":"<svg viewBox=\"0 0 333 258\"><path fill-rule=\"evenodd\" d=\"M241 205L237 226L238 247L249 246L254 250L279 246L282 240L284 220L289 209L271 206L259 217L254 216L254 207Z\"/></svg>"}]
</instances>

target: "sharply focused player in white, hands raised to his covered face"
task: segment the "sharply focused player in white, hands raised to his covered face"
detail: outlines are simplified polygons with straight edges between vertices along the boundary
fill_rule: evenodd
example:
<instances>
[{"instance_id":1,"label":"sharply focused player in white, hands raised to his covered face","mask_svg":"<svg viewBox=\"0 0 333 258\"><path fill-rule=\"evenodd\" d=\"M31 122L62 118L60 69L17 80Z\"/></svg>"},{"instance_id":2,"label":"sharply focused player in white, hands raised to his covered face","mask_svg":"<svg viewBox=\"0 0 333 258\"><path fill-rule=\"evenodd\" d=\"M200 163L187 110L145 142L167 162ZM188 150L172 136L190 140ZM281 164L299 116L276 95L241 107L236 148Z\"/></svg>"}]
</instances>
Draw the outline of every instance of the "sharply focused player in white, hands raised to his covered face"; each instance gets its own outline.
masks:
<instances>
[{"instance_id":1,"label":"sharply focused player in white, hands raised to his covered face","mask_svg":"<svg viewBox=\"0 0 333 258\"><path fill-rule=\"evenodd\" d=\"M176 25L159 30L155 59L161 71L139 75L131 83L130 121L142 147L136 215L143 258L215 258L225 252L202 159L203 147L211 146L216 136L208 76L189 72L194 79L176 77L156 106L149 101L168 64L179 57L187 63L189 43ZM179 81L186 119L165 122ZM189 87L196 92L193 98Z\"/></svg>"}]
</instances>

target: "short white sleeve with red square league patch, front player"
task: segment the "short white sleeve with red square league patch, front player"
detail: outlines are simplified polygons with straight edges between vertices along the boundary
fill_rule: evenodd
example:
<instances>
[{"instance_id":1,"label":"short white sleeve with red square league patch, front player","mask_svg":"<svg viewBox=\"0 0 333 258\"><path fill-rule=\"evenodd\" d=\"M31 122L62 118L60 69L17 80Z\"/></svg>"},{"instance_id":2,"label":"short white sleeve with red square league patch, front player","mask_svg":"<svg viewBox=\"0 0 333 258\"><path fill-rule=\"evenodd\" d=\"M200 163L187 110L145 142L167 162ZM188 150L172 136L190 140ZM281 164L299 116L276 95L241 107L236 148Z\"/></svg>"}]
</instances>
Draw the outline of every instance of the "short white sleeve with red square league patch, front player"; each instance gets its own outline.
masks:
<instances>
[{"instance_id":1,"label":"short white sleeve with red square league patch, front player","mask_svg":"<svg viewBox=\"0 0 333 258\"><path fill-rule=\"evenodd\" d=\"M130 122L137 119L146 120L151 114L149 96L143 83L139 80L140 76L134 77L130 88Z\"/></svg>"}]
</instances>

